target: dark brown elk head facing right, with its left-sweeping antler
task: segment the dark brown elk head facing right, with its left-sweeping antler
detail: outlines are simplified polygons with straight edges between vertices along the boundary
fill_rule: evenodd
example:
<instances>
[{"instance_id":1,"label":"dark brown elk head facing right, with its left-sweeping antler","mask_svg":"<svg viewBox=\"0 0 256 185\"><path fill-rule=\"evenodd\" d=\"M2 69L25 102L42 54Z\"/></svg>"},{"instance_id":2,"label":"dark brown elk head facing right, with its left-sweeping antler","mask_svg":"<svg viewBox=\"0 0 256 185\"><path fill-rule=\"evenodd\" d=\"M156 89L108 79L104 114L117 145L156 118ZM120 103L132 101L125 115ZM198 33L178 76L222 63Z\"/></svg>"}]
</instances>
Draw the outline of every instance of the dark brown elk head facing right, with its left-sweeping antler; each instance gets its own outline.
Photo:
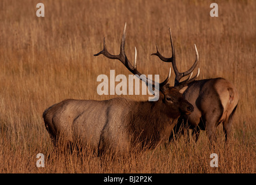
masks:
<instances>
[{"instance_id":1,"label":"dark brown elk head facing right, with its left-sweeping antler","mask_svg":"<svg viewBox=\"0 0 256 185\"><path fill-rule=\"evenodd\" d=\"M104 38L104 44L103 44L103 50L100 51L97 54L94 54L94 56L99 56L100 54L103 54L105 57L110 59L116 59L122 62L123 65L126 66L126 68L133 73L134 75L141 76L142 74L137 70L137 50L135 47L135 56L134 56L134 64L132 65L125 54L125 38L126 38L126 23L125 28L123 29L123 35L122 35L122 41L120 46L120 53L118 55L110 54L107 51L106 47L106 41ZM171 68L169 71L169 75L166 77L166 79L162 83L155 82L151 79L148 79L145 77L145 79L140 78L143 82L145 82L148 86L148 84L151 84L154 88L159 88L160 96L157 103L159 105L158 111L162 111L163 113L166 113L167 115L170 115L171 117L177 117L178 114L184 113L184 114L191 114L193 112L193 106L191 103L186 101L182 94L180 93L181 88L177 87L171 87L168 83L171 76ZM154 102L152 102L154 103Z\"/></svg>"}]
</instances>

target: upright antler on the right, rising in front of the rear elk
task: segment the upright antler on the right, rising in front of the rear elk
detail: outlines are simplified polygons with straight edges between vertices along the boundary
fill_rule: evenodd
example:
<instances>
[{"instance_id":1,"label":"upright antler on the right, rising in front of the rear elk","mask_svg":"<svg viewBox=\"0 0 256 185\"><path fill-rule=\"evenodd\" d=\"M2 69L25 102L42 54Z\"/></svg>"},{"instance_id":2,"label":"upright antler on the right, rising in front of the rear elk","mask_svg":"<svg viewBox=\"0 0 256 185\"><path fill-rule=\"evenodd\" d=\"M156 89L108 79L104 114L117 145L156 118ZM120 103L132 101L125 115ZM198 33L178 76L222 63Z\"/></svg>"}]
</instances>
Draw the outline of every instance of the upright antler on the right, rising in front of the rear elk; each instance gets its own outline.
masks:
<instances>
[{"instance_id":1,"label":"upright antler on the right, rising in front of the rear elk","mask_svg":"<svg viewBox=\"0 0 256 185\"><path fill-rule=\"evenodd\" d=\"M196 49L196 45L195 45L196 60L195 60L194 64L191 66L191 68L188 69L188 71L185 71L183 73L179 72L178 69L177 69L176 60L175 60L175 50L174 50L174 46L173 46L173 38L171 36L171 29L169 28L169 30L170 30L170 38L171 38L171 53L172 53L172 56L170 58L163 57L162 54L159 53L157 45L156 45L156 53L152 53L151 55L158 56L160 58L160 60L162 60L164 62L171 62L173 64L173 70L174 70L174 73L175 73L174 86L185 86L185 84L188 84L189 82L192 82L193 80L195 80L199 76L200 69L198 68L198 73L196 74L196 76L194 76L191 79L191 76L193 74L193 70L196 68L196 65L198 65L198 61L199 61L198 49ZM189 74L191 74L191 75L188 77L188 79L184 80L183 82L180 82L182 77L188 76Z\"/></svg>"}]
</instances>

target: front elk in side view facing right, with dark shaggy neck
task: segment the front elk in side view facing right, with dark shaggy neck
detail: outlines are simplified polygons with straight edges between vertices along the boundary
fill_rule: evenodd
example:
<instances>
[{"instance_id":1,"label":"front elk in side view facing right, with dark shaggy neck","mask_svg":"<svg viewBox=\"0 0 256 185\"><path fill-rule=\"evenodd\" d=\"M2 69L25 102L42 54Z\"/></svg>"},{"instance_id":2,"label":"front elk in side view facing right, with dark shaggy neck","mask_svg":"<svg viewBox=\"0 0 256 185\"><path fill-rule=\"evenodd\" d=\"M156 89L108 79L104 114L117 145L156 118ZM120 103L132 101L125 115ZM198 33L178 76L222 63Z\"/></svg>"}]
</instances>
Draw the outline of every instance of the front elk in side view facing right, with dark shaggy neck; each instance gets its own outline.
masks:
<instances>
[{"instance_id":1,"label":"front elk in side view facing right, with dark shaggy neck","mask_svg":"<svg viewBox=\"0 0 256 185\"><path fill-rule=\"evenodd\" d=\"M134 75L141 75L125 54L126 24L123 30L120 54L107 51L105 38L103 54L107 58L122 62ZM196 62L198 51L196 50ZM171 68L170 68L171 71ZM79 146L90 146L98 154L105 151L126 152L139 146L156 147L167 142L181 114L191 114L193 106L180 91L185 84L171 87L166 80L159 84L158 101L133 101L113 98L105 101L67 99L46 109L43 113L45 126L54 145L60 140L78 142ZM149 81L155 85L158 82ZM156 86L153 86L156 87ZM63 139L64 138L64 139ZM63 144L61 144L63 145ZM65 146L64 143L63 146ZM141 148L140 147L140 148Z\"/></svg>"}]
</instances>

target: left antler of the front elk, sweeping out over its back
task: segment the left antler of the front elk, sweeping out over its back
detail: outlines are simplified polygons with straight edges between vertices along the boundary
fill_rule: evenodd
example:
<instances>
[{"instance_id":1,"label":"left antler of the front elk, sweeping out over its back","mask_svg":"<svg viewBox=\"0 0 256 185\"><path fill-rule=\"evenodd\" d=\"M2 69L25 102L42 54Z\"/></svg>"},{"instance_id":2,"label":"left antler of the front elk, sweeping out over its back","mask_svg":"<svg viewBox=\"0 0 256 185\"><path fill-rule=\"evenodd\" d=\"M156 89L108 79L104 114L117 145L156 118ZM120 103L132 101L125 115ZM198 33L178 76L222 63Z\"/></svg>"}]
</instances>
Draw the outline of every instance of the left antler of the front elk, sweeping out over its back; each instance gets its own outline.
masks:
<instances>
[{"instance_id":1,"label":"left antler of the front elk, sweeping out over its back","mask_svg":"<svg viewBox=\"0 0 256 185\"><path fill-rule=\"evenodd\" d=\"M119 55L113 55L113 54L110 54L108 52L107 47L106 47L105 38L104 38L103 50L100 51L97 54L94 54L94 56L99 56L100 54L103 54L107 58L117 59L120 62L122 62L123 65L125 65L126 68L131 73L133 73L134 75L141 76L141 73L138 72L138 70L137 70L137 50L136 50L136 47L135 47L134 65L131 65L130 61L128 60L128 58L126 57L126 54L125 54L125 38L126 38L126 23L125 23L125 28L123 29L123 35L122 35L122 41L121 41ZM168 80L170 79L170 76L171 76L171 68L170 68L170 71L169 71L169 75L167 76L167 78L162 83L159 84L159 87L163 87L165 84L167 84ZM146 82L147 84L152 83L153 86L155 86L155 84L156 84L155 81L149 80L147 77L146 77L146 79L141 79L141 80Z\"/></svg>"}]
</instances>

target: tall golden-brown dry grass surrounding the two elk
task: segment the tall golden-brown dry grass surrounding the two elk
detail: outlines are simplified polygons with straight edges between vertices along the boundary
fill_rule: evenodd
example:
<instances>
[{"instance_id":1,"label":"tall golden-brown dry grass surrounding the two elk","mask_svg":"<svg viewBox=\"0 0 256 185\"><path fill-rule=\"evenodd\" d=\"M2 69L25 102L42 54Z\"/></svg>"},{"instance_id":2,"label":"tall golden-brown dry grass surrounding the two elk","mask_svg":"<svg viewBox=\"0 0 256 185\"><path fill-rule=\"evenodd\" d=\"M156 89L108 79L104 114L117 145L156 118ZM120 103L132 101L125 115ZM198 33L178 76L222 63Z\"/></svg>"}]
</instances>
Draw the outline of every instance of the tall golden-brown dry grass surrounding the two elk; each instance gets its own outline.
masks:
<instances>
[{"instance_id":1,"label":"tall golden-brown dry grass surrounding the two elk","mask_svg":"<svg viewBox=\"0 0 256 185\"><path fill-rule=\"evenodd\" d=\"M254 0L215 1L218 17L210 17L213 1L40 1L45 17L36 17L38 1L0 1L0 173L255 173L256 102ZM129 75L119 61L93 54L103 49L118 54L127 23L126 54L144 74L163 80L170 64L172 30L177 65L188 69L199 51L199 79L224 77L239 91L229 147L222 125L217 146L210 149L206 132L198 143L180 139L172 145L103 161L89 151L82 154L52 153L53 146L42 119L43 111L67 98L109 99L98 95L100 74ZM174 76L171 76L174 83ZM147 95L127 95L146 100ZM43 153L45 168L37 168L36 154ZM217 153L218 168L210 167Z\"/></svg>"}]
</instances>

